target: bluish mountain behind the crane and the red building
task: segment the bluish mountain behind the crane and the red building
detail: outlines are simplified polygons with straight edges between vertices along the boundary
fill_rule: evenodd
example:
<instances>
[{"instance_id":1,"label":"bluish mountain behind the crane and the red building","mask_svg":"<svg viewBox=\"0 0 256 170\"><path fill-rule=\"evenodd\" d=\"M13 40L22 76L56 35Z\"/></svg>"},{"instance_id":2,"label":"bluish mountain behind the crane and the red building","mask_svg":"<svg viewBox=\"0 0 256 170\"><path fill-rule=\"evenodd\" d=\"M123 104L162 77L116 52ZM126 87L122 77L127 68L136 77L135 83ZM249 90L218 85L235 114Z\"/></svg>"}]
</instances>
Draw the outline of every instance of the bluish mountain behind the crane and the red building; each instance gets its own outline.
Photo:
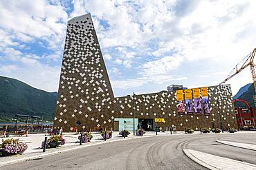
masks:
<instances>
[{"instance_id":1,"label":"bluish mountain behind the crane and the red building","mask_svg":"<svg viewBox=\"0 0 256 170\"><path fill-rule=\"evenodd\" d=\"M243 88L243 87L241 87L241 88ZM239 91L240 90L241 89L239 89ZM254 93L255 93L255 91L254 91L253 84L249 84L248 89L243 94L241 94L241 96L239 96L238 98L241 99L241 100L246 100L246 102L251 107L254 107L254 102L253 102ZM235 102L235 107L246 107L246 105L244 105L244 103L241 103L241 102Z\"/></svg>"}]
</instances>

